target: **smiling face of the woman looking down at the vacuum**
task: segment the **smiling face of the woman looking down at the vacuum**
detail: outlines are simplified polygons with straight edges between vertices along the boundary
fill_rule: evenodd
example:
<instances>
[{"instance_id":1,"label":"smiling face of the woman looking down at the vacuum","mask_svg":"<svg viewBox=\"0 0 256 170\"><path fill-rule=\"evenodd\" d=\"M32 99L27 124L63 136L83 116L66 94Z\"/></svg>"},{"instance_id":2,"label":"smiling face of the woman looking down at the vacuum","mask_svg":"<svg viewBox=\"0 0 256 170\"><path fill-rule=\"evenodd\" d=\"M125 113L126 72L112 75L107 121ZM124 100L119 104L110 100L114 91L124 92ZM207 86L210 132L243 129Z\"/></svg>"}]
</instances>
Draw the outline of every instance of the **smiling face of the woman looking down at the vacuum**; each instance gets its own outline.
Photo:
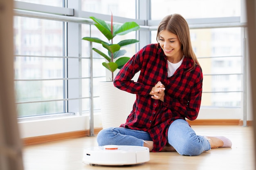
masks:
<instances>
[{"instance_id":1,"label":"smiling face of the woman looking down at the vacuum","mask_svg":"<svg viewBox=\"0 0 256 170\"><path fill-rule=\"evenodd\" d=\"M177 63L182 59L182 45L177 35L163 30L159 33L159 44L170 62Z\"/></svg>"}]
</instances>

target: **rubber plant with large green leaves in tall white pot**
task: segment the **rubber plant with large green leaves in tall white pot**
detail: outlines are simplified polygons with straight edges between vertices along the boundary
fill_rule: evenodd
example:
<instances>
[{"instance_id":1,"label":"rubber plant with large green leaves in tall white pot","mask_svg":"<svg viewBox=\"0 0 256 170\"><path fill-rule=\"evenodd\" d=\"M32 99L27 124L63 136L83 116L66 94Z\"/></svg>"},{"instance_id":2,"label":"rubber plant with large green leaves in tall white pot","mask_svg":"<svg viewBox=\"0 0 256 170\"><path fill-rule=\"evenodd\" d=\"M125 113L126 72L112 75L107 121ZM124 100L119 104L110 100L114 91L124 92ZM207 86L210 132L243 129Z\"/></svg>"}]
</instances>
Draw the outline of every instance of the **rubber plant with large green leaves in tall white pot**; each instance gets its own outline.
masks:
<instances>
[{"instance_id":1,"label":"rubber plant with large green leaves in tall white pot","mask_svg":"<svg viewBox=\"0 0 256 170\"><path fill-rule=\"evenodd\" d=\"M95 22L94 25L106 37L108 42L92 37L84 37L83 40L102 44L102 46L107 49L108 54L105 54L99 49L92 48L93 51L106 59L106 62L103 62L102 65L112 73L110 82L99 82L102 127L119 127L120 124L125 123L127 116L132 110L135 95L114 87L114 71L116 71L117 68L122 68L130 59L130 57L123 56L126 53L126 50L121 48L139 41L135 39L128 39L115 44L113 39L117 35L125 35L132 31L139 30L139 25L136 22L113 24L112 15L110 24L107 24L105 21L95 17L90 18Z\"/></svg>"}]
</instances>

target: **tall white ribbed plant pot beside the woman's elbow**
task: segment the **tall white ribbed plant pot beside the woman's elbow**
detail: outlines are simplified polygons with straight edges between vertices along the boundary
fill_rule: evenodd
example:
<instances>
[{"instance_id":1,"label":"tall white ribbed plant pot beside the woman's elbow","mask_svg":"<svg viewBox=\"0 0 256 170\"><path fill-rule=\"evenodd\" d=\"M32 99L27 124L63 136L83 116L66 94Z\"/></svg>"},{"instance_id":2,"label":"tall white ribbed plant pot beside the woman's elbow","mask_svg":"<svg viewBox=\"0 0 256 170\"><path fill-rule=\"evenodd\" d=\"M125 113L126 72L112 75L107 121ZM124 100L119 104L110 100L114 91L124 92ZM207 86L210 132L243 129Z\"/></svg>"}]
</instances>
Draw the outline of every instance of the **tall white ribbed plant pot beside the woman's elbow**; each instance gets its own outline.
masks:
<instances>
[{"instance_id":1,"label":"tall white ribbed plant pot beside the woman's elbow","mask_svg":"<svg viewBox=\"0 0 256 170\"><path fill-rule=\"evenodd\" d=\"M102 128L119 127L126 122L136 95L121 91L113 82L99 82Z\"/></svg>"}]
</instances>

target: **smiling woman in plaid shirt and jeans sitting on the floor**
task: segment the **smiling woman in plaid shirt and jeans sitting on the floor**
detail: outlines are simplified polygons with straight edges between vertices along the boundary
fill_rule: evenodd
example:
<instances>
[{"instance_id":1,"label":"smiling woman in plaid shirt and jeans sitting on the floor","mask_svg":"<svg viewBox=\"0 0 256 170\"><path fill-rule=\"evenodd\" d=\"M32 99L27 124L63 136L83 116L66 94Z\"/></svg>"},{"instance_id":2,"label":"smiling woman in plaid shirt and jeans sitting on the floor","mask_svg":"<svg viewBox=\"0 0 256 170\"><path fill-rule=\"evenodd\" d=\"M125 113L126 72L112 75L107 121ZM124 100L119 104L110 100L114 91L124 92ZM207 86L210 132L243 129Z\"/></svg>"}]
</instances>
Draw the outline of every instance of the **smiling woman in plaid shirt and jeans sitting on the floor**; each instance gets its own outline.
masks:
<instances>
[{"instance_id":1,"label":"smiling woman in plaid shirt and jeans sitting on the floor","mask_svg":"<svg viewBox=\"0 0 256 170\"><path fill-rule=\"evenodd\" d=\"M198 116L203 80L186 20L179 14L166 16L157 42L137 52L115 77L115 87L136 94L136 100L125 124L99 132L99 146L145 146L190 156L231 147L226 137L196 135L185 120ZM132 81L139 71L137 82Z\"/></svg>"}]
</instances>

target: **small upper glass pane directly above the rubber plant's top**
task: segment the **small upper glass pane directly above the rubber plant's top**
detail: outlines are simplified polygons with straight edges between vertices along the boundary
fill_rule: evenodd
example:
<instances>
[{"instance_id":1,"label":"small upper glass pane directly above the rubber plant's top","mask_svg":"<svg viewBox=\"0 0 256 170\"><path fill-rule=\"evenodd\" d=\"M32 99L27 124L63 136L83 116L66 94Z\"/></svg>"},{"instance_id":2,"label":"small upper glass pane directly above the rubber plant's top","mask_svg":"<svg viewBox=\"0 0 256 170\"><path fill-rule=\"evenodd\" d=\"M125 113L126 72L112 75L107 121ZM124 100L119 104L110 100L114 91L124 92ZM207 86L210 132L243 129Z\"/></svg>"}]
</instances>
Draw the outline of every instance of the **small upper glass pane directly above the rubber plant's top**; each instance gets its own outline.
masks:
<instances>
[{"instance_id":1,"label":"small upper glass pane directly above the rubber plant's top","mask_svg":"<svg viewBox=\"0 0 256 170\"><path fill-rule=\"evenodd\" d=\"M135 0L82 0L82 11L105 15L133 18L136 17Z\"/></svg>"}]
</instances>

